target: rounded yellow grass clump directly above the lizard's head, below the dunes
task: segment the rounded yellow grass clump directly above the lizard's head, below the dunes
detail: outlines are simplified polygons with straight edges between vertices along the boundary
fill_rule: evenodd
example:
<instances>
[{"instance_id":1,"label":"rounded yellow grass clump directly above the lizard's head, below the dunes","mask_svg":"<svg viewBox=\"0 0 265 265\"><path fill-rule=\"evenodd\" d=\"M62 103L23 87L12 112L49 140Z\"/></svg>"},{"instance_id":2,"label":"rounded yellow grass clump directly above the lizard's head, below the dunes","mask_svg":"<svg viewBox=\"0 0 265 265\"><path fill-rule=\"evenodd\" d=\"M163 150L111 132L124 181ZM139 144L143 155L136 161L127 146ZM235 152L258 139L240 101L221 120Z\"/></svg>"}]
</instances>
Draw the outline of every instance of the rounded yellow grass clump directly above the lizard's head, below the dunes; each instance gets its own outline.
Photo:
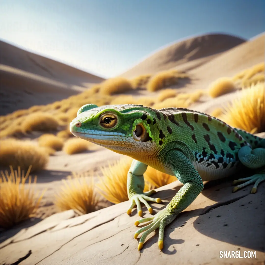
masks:
<instances>
[{"instance_id":1,"label":"rounded yellow grass clump directly above the lizard's head, below the dunes","mask_svg":"<svg viewBox=\"0 0 265 265\"><path fill-rule=\"evenodd\" d=\"M100 94L112 95L126 92L133 89L129 80L124 77L114 77L101 83Z\"/></svg>"}]
</instances>

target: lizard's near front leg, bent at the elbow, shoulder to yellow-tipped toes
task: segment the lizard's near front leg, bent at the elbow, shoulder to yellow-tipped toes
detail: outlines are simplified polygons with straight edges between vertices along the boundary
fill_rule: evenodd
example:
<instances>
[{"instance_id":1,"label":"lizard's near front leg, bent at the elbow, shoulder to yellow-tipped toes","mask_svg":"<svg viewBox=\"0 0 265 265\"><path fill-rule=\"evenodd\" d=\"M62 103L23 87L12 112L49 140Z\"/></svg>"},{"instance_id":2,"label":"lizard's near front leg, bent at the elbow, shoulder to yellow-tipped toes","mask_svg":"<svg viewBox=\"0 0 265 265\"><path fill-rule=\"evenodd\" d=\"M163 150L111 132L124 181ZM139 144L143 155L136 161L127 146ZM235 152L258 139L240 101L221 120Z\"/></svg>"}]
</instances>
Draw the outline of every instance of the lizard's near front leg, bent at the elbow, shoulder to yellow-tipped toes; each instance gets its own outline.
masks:
<instances>
[{"instance_id":1,"label":"lizard's near front leg, bent at the elbow, shoulder to yellow-tipped toes","mask_svg":"<svg viewBox=\"0 0 265 265\"><path fill-rule=\"evenodd\" d=\"M140 233L144 232L140 238L138 250L142 249L147 235L158 227L158 247L162 250L165 226L171 223L181 211L187 208L203 189L202 179L198 171L181 151L169 151L164 157L164 164L184 185L180 188L166 208L152 217L153 221L151 224L136 231L134 235L135 239ZM138 226L139 223L147 222L149 220L151 220L151 218L141 219L136 221L135 225Z\"/></svg>"}]
</instances>

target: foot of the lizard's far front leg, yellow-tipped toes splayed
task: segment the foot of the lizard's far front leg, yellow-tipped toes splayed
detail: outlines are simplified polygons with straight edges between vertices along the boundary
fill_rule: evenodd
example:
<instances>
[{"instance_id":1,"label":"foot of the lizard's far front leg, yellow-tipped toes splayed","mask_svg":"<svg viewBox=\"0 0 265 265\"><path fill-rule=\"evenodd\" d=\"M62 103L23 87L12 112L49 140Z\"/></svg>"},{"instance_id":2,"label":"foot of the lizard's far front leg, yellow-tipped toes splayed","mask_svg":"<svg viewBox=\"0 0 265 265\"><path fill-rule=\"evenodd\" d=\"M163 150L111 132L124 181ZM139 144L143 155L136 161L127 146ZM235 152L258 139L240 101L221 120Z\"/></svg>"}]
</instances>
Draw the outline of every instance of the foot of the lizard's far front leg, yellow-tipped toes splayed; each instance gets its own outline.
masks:
<instances>
[{"instance_id":1,"label":"foot of the lizard's far front leg, yellow-tipped toes splayed","mask_svg":"<svg viewBox=\"0 0 265 265\"><path fill-rule=\"evenodd\" d=\"M135 194L130 198L131 201L131 205L127 211L127 214L130 215L132 212L133 207L137 206L137 211L138 211L138 215L142 216L143 211L142 211L142 207L141 207L141 202L147 207L148 211L150 214L153 213L153 209L152 207L148 204L147 201L152 201L152 202L156 202L156 203L161 203L162 200L160 198L152 198L149 197L149 195L156 193L155 190L151 190L149 192L144 192L143 194Z\"/></svg>"}]
</instances>

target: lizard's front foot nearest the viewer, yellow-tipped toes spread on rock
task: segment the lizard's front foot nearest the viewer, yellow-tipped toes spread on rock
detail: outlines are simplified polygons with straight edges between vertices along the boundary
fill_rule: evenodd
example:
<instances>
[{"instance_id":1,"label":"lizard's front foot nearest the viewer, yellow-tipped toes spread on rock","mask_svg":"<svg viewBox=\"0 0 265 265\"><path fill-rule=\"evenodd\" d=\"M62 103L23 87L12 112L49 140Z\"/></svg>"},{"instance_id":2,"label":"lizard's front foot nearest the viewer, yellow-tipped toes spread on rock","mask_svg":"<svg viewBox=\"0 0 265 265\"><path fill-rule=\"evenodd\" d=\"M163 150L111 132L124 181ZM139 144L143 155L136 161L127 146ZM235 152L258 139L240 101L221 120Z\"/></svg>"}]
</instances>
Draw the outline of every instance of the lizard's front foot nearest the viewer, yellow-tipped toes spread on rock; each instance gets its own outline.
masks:
<instances>
[{"instance_id":1,"label":"lizard's front foot nearest the viewer, yellow-tipped toes spread on rock","mask_svg":"<svg viewBox=\"0 0 265 265\"><path fill-rule=\"evenodd\" d=\"M152 220L150 224L148 224L147 226L141 227L134 234L134 238L136 239L138 235L143 232L140 238L140 241L139 241L138 251L140 251L143 248L145 238L158 227L159 227L158 248L162 250L164 246L163 239L164 239L165 226L171 223L176 218L177 215L178 214L169 212L169 210L166 208L164 210L161 210L159 213L157 213L156 215L152 217L147 217L139 221L136 221L135 225L138 226L140 223L144 223L144 222L148 222Z\"/></svg>"}]
</instances>

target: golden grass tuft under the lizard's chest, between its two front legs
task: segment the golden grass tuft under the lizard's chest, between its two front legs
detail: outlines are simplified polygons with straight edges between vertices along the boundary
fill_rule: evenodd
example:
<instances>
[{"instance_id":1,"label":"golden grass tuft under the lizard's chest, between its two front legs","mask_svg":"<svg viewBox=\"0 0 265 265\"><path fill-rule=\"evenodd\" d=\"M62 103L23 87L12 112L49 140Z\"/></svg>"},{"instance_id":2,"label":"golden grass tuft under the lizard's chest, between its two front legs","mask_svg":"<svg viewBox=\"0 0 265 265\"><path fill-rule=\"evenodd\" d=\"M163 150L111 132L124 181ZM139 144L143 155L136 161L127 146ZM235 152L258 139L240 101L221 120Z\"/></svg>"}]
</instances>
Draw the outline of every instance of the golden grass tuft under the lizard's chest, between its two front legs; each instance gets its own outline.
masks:
<instances>
[{"instance_id":1,"label":"golden grass tuft under the lizard's chest, between its two front legs","mask_svg":"<svg viewBox=\"0 0 265 265\"><path fill-rule=\"evenodd\" d=\"M175 176L162 173L161 171L158 171L150 166L147 167L147 170L144 173L144 178L151 183L155 189L177 180Z\"/></svg>"}]
</instances>

